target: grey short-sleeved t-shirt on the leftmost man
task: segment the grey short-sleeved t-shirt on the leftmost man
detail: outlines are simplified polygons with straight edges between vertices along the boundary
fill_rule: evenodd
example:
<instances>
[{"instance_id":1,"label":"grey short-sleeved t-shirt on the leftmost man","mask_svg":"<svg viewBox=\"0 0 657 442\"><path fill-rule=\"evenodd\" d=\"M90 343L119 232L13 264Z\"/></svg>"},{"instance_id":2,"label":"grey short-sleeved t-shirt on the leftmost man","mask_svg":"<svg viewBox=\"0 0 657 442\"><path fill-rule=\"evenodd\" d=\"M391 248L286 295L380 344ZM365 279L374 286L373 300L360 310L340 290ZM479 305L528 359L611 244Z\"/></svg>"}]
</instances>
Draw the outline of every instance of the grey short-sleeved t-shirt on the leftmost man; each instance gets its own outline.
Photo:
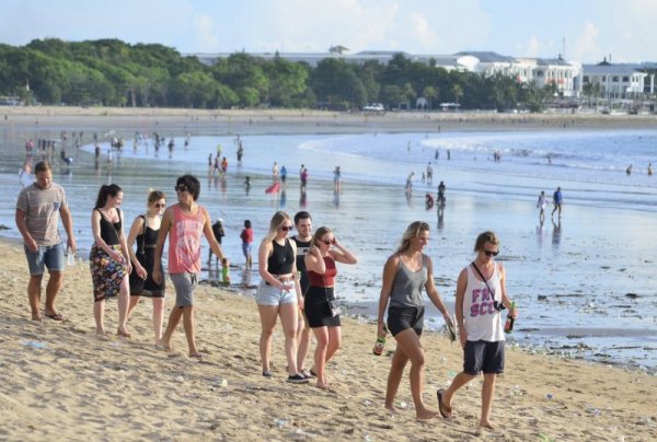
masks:
<instances>
[{"instance_id":1,"label":"grey short-sleeved t-shirt on the leftmost man","mask_svg":"<svg viewBox=\"0 0 657 442\"><path fill-rule=\"evenodd\" d=\"M61 242L59 237L59 210L67 207L64 187L53 183L47 189L32 184L19 194L16 209L25 212L27 232L39 246Z\"/></svg>"}]
</instances>

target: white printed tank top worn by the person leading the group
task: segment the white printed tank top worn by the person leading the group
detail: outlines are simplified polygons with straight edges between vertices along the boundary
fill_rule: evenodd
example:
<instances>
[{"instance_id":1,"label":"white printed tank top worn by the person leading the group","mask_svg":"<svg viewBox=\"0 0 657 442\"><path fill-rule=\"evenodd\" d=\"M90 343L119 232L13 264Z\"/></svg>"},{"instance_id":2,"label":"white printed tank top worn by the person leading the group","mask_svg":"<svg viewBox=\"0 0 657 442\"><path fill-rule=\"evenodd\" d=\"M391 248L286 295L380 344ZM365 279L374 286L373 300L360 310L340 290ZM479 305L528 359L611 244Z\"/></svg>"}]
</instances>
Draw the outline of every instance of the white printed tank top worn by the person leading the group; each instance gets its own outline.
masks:
<instances>
[{"instance_id":1,"label":"white printed tank top worn by the person leading the group","mask_svg":"<svg viewBox=\"0 0 657 442\"><path fill-rule=\"evenodd\" d=\"M497 264L488 286L493 294L488 292L486 283L474 277L475 269L472 265L468 267L468 287L463 296L463 322L468 330L468 340L486 340L495 342L504 339L504 329L499 319L499 312L493 306L493 301L502 301L502 284ZM481 269L480 269L481 270Z\"/></svg>"}]
</instances>

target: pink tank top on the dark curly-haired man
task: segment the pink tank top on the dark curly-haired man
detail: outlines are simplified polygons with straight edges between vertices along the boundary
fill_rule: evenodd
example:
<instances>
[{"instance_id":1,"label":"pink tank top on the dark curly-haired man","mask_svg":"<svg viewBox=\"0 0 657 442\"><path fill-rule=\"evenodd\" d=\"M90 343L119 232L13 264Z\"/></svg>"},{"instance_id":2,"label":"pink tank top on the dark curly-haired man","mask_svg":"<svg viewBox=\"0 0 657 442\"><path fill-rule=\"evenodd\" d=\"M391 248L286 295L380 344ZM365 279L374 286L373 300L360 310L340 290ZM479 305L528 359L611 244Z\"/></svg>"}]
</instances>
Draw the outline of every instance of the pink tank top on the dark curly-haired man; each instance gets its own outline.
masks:
<instances>
[{"instance_id":1,"label":"pink tank top on the dark curly-haired man","mask_svg":"<svg viewBox=\"0 0 657 442\"><path fill-rule=\"evenodd\" d=\"M169 272L200 272L200 235L205 217L200 206L196 214L173 207L173 226L169 241Z\"/></svg>"}]
</instances>

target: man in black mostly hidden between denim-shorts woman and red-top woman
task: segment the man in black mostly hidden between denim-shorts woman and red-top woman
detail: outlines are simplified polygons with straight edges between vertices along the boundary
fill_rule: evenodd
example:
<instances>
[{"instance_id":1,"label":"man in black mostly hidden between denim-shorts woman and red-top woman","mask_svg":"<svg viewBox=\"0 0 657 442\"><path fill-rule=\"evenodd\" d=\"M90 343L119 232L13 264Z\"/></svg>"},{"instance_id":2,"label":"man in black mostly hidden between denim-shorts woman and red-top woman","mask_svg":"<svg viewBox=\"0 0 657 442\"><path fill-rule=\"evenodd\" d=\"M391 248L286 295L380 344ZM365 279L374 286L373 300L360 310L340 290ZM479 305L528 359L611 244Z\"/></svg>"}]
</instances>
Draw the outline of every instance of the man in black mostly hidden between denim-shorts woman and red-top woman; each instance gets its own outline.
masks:
<instances>
[{"instance_id":1,"label":"man in black mostly hidden between denim-shorts woman and red-top woman","mask_svg":"<svg viewBox=\"0 0 657 442\"><path fill-rule=\"evenodd\" d=\"M310 213L303 210L297 212L297 214L295 214L295 228L297 229L298 233L292 236L291 240L297 244L297 270L301 276L299 281L301 286L301 293L306 295L306 291L310 286L304 259L312 241L312 218L310 217ZM303 376L311 377L310 372L303 368L306 356L308 354L308 346L310 344L310 328L308 327L308 323L303 321L304 316L306 315L299 316L299 334L297 336L297 369Z\"/></svg>"}]
</instances>

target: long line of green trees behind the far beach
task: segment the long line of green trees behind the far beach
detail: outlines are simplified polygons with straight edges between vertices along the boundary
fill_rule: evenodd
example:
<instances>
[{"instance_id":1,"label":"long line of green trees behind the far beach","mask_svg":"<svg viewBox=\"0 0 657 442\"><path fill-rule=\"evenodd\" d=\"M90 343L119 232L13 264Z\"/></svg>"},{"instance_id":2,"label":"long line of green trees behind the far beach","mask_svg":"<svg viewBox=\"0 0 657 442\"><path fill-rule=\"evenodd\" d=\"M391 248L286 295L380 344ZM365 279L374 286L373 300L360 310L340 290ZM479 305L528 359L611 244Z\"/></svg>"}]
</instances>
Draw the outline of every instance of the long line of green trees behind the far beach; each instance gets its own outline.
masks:
<instances>
[{"instance_id":1,"label":"long line of green trees behind the far beach","mask_svg":"<svg viewBox=\"0 0 657 442\"><path fill-rule=\"evenodd\" d=\"M326 58L316 67L235 53L214 66L158 44L35 39L0 45L0 95L27 103L131 107L428 108L541 111L554 91L497 74L447 71L397 54L387 63Z\"/></svg>"}]
</instances>

